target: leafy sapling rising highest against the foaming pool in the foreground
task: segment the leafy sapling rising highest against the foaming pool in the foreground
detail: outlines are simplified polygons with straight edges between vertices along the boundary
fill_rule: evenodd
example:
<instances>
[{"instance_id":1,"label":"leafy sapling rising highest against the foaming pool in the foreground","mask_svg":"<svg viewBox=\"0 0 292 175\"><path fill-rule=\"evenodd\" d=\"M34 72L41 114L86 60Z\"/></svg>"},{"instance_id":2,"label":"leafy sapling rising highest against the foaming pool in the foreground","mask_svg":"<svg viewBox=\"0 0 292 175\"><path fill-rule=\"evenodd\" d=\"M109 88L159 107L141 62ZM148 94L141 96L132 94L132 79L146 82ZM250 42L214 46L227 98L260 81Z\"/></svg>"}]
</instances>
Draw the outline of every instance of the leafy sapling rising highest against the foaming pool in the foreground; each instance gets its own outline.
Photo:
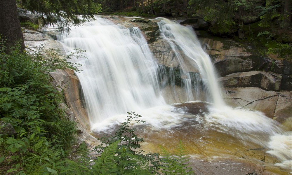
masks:
<instances>
[{"instance_id":1,"label":"leafy sapling rising highest against the foaming pool in the foreground","mask_svg":"<svg viewBox=\"0 0 292 175\"><path fill-rule=\"evenodd\" d=\"M137 130L134 125L140 122L145 123L144 120L138 120L141 115L135 112L128 112L128 116L125 122L121 123L119 129L113 136L105 136L100 138L102 144L95 149L99 153L103 153L107 149L107 145L112 145L118 142L117 150L113 157L116 168L114 173L117 174L135 174L136 171L147 171L150 174L154 173L158 169L157 154L149 153L143 154L142 150L137 151L140 148L140 143L143 142L143 138L139 138L135 131ZM150 166L151 164L151 166ZM143 165L143 166L142 166Z\"/></svg>"}]
</instances>

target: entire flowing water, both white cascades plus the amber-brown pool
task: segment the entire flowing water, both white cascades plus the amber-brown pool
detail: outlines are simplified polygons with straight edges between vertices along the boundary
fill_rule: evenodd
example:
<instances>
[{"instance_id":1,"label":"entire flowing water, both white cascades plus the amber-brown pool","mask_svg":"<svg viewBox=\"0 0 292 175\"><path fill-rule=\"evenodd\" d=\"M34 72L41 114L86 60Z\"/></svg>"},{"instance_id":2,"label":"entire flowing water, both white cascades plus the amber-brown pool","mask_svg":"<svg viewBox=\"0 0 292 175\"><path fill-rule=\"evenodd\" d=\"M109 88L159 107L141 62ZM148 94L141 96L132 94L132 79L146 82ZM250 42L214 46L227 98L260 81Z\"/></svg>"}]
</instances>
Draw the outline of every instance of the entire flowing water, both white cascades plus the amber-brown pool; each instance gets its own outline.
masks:
<instances>
[{"instance_id":1,"label":"entire flowing water, both white cascades plus the amber-brown pool","mask_svg":"<svg viewBox=\"0 0 292 175\"><path fill-rule=\"evenodd\" d=\"M261 112L226 106L216 71L194 31L164 18L153 21L176 53L186 103L166 104L160 66L138 27L125 28L96 17L69 35L59 36L66 51L86 50L86 58L73 61L83 65L76 75L93 134L113 132L127 112L135 111L147 122L138 126L139 135L145 138L143 149L159 151L159 144L172 149L182 140L197 159L244 157L260 162L268 172L289 173L291 133L284 133L279 123ZM190 67L198 76L190 76ZM196 101L201 91L205 99Z\"/></svg>"}]
</instances>

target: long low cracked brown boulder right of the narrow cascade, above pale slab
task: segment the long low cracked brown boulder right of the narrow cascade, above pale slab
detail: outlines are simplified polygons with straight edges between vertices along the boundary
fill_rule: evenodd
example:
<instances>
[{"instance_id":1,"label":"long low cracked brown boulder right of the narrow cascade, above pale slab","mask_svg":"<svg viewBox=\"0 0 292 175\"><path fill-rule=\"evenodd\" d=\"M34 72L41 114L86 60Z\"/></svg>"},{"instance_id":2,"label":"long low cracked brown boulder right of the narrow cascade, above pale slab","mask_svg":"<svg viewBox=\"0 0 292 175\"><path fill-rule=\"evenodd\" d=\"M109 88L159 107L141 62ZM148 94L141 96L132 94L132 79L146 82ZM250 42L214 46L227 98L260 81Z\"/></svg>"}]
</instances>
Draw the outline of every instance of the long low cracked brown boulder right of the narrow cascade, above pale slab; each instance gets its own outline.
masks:
<instances>
[{"instance_id":1,"label":"long low cracked brown boulder right of the narrow cascade, above pale slab","mask_svg":"<svg viewBox=\"0 0 292 175\"><path fill-rule=\"evenodd\" d=\"M239 72L220 77L218 80L226 88L258 87L263 90L280 90L282 76L272 72Z\"/></svg>"}]
</instances>

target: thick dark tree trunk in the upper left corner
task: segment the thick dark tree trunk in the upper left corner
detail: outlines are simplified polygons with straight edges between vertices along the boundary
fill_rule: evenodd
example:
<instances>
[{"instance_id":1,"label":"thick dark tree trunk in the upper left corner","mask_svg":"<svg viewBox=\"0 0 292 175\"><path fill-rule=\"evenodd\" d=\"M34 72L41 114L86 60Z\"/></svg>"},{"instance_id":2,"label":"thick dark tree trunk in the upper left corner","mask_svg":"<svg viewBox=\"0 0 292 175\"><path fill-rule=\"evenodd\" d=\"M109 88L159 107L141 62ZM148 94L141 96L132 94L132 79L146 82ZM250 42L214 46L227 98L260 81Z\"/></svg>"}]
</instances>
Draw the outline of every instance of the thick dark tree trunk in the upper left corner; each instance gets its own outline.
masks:
<instances>
[{"instance_id":1,"label":"thick dark tree trunk in the upper left corner","mask_svg":"<svg viewBox=\"0 0 292 175\"><path fill-rule=\"evenodd\" d=\"M6 48L9 50L19 42L21 48L25 50L16 1L0 0L0 9L0 35L6 40Z\"/></svg>"}]
</instances>

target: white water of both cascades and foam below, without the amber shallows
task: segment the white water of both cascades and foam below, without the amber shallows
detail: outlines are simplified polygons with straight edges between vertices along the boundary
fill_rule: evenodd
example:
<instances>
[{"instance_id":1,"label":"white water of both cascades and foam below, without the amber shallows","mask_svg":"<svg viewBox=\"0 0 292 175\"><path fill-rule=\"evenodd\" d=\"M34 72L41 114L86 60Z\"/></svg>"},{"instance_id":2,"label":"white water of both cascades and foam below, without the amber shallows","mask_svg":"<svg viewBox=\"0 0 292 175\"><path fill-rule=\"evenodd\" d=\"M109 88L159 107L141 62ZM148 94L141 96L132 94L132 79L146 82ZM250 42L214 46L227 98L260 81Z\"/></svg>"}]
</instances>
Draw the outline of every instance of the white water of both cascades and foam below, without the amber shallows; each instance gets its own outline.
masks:
<instances>
[{"instance_id":1,"label":"white water of both cascades and foam below, without the amber shallows","mask_svg":"<svg viewBox=\"0 0 292 175\"><path fill-rule=\"evenodd\" d=\"M67 51L75 48L86 50L86 59L74 61L83 64L80 68L83 71L76 74L84 93L91 129L105 131L123 122L126 112L135 111L147 121L148 133L163 129L172 133L173 128L187 127L215 130L243 143L269 144L268 153L275 157L281 155L278 157L282 161L279 166L289 168L292 158L283 155L291 152L291 142L283 143L286 147L282 146L282 149L278 149L279 142L273 142L282 135L279 124L263 113L225 106L216 71L194 31L170 20L156 20L160 20L161 36L177 53L181 76L187 77L184 79L186 101L195 100L194 96L198 95L192 94L192 88L197 93L205 90L206 101L211 102L208 104L209 113L197 116L167 105L158 83L158 65L140 30L125 29L97 17L93 22L72 29L71 34L60 36ZM190 66L198 70L200 78L197 80L191 80ZM199 124L183 125L192 120Z\"/></svg>"}]
</instances>

